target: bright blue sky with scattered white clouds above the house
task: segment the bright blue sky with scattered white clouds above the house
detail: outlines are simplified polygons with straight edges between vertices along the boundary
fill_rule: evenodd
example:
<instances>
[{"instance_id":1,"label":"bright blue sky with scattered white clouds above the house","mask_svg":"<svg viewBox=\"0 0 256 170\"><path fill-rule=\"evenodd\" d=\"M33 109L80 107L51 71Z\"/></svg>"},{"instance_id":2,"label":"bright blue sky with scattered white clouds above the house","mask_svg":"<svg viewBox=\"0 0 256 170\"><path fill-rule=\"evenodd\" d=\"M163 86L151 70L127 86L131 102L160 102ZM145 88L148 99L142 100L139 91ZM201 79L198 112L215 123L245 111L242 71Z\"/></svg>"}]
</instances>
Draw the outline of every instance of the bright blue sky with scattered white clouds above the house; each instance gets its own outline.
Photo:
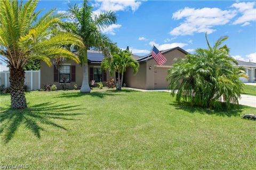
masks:
<instances>
[{"instance_id":1,"label":"bright blue sky with scattered white clouds above the house","mask_svg":"<svg viewBox=\"0 0 256 170\"><path fill-rule=\"evenodd\" d=\"M82 1L40 1L37 8L56 8L63 13L68 4ZM134 54L145 55L151 46L175 46L193 52L206 48L204 33L213 44L220 36L230 55L256 62L255 1L90 1L94 12L113 10L117 23L103 30L119 48L129 46Z\"/></svg>"}]
</instances>

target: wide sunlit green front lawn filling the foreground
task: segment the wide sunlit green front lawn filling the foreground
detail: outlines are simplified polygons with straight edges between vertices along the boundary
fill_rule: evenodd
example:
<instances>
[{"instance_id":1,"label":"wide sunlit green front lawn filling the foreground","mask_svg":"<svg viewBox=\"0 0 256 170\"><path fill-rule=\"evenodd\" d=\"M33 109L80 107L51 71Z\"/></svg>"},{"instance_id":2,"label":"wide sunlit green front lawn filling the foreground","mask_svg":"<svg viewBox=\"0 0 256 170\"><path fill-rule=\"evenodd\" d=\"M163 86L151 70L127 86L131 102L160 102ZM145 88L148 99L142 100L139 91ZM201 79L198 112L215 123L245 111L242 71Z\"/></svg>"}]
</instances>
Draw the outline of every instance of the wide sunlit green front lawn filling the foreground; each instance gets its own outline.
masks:
<instances>
[{"instance_id":1,"label":"wide sunlit green front lawn filling the foreground","mask_svg":"<svg viewBox=\"0 0 256 170\"><path fill-rule=\"evenodd\" d=\"M1 166L30 169L255 169L256 122L241 106L177 105L167 92L93 90L1 94Z\"/></svg>"}]
</instances>

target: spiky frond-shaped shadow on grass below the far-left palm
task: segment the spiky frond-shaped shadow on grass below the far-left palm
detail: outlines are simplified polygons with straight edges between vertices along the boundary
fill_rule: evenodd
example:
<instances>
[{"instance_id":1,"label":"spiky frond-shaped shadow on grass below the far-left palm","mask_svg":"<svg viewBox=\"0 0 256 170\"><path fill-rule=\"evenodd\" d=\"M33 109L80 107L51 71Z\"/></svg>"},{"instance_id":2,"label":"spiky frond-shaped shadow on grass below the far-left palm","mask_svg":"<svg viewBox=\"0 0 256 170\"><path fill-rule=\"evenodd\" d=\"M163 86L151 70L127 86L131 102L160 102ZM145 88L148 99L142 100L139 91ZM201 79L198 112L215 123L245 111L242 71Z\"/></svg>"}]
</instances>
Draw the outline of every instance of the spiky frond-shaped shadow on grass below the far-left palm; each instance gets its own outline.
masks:
<instances>
[{"instance_id":1,"label":"spiky frond-shaped shadow on grass below the far-left palm","mask_svg":"<svg viewBox=\"0 0 256 170\"><path fill-rule=\"evenodd\" d=\"M33 105L26 109L6 109L0 113L1 139L3 139L4 143L8 143L21 125L25 125L25 127L33 132L37 138L41 138L41 131L46 131L40 124L50 125L54 128L68 131L65 127L54 123L52 120L79 120L69 118L68 116L82 115L81 113L66 113L77 111L77 106L78 105L47 102ZM3 110L3 108L1 108L1 110Z\"/></svg>"}]
</instances>

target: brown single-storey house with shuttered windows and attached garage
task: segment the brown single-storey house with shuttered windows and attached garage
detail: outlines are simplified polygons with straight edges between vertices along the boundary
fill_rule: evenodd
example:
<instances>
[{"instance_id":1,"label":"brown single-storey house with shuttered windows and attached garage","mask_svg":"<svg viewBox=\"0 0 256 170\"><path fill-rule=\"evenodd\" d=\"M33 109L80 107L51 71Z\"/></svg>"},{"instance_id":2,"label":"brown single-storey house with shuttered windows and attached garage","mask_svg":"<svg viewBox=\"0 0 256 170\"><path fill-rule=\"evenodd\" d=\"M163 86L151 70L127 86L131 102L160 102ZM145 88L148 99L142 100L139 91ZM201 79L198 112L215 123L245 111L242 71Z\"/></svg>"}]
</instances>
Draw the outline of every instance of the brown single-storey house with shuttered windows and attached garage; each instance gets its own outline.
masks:
<instances>
[{"instance_id":1,"label":"brown single-storey house with shuttered windows and attached garage","mask_svg":"<svg viewBox=\"0 0 256 170\"><path fill-rule=\"evenodd\" d=\"M132 69L127 69L124 73L124 83L126 87L140 89L166 89L168 82L166 81L167 70L172 67L177 58L183 58L187 52L180 47L163 50L162 54L167 61L164 65L159 66L154 58L149 54L146 56L133 55L133 58L140 63L139 71L133 75ZM100 64L103 60L103 54L99 51L87 50L88 56L88 76L89 83L94 80L96 83L102 81L106 84L110 80L108 71L102 71ZM63 67L59 70L53 65L47 66L41 62L41 88L45 84L55 84L58 89L62 88L63 78L66 78L69 89L74 88L74 84L82 86L83 70L81 65L74 61L65 61Z\"/></svg>"}]
</instances>

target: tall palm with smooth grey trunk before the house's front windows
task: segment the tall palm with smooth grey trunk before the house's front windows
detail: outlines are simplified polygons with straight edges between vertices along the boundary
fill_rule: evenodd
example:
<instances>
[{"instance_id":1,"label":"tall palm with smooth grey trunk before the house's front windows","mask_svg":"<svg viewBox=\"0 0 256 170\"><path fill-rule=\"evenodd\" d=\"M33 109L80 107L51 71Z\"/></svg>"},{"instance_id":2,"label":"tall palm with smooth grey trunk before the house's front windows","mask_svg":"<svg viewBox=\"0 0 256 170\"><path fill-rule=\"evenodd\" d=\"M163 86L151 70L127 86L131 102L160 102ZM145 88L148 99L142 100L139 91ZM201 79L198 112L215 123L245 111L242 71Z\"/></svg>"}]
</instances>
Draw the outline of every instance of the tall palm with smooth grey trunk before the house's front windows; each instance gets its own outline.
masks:
<instances>
[{"instance_id":1,"label":"tall palm with smooth grey trunk before the house's front windows","mask_svg":"<svg viewBox=\"0 0 256 170\"><path fill-rule=\"evenodd\" d=\"M71 22L63 23L62 28L68 32L75 33L83 39L85 48L73 46L77 51L81 65L83 66L83 82L81 92L90 92L88 80L87 49L102 50L105 57L110 57L110 48L113 45L111 40L101 33L102 29L116 22L114 12L106 11L100 14L94 14L88 1L83 2L82 8L77 4L69 5Z\"/></svg>"}]
</instances>

